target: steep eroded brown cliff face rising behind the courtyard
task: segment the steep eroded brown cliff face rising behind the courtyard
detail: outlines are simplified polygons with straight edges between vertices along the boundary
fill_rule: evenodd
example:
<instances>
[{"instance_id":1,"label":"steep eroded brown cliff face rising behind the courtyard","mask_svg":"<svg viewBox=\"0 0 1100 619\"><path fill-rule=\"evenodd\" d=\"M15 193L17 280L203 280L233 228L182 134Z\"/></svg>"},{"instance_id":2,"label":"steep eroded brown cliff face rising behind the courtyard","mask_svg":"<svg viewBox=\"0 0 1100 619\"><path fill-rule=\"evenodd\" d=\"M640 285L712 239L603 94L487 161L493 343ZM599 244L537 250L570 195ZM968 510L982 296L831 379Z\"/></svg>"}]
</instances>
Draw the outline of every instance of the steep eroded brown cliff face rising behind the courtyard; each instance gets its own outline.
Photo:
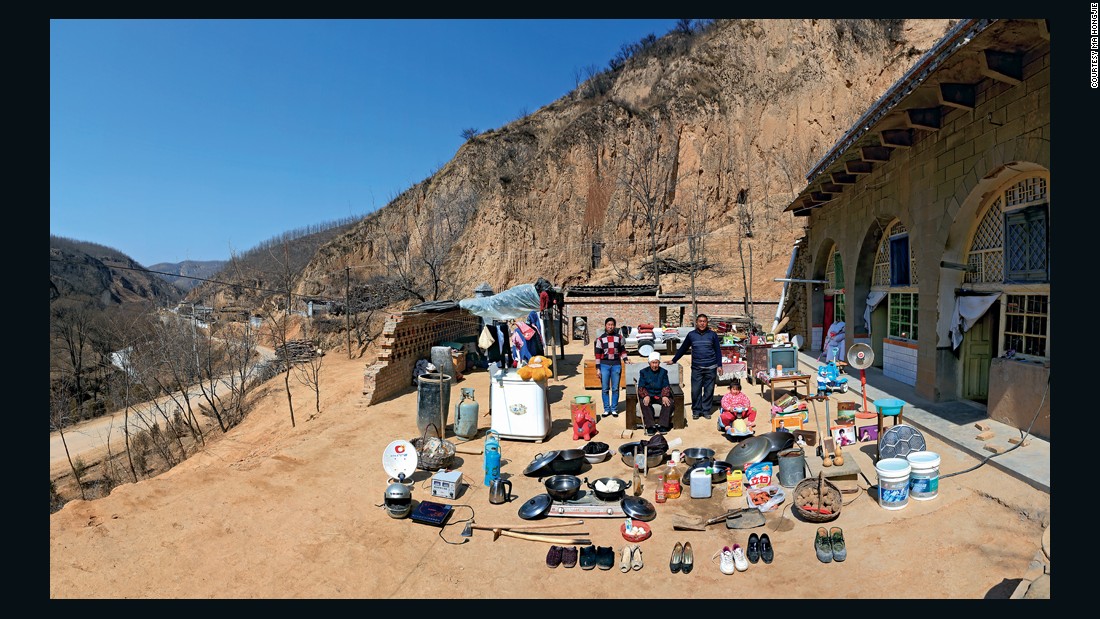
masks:
<instances>
[{"instance_id":1,"label":"steep eroded brown cliff face rising behind the courtyard","mask_svg":"<svg viewBox=\"0 0 1100 619\"><path fill-rule=\"evenodd\" d=\"M322 246L299 291L342 296L345 265L360 281L438 280L421 286L428 298L538 277L651 283L651 239L662 258L688 261L695 237L711 265L702 290L740 297L751 259L754 298L778 298L771 278L802 235L783 208L950 23L733 20L667 35L618 70L469 140L430 178ZM654 234L640 213L646 197ZM595 267L594 242L603 244ZM686 281L661 275L666 291L685 291Z\"/></svg>"}]
</instances>

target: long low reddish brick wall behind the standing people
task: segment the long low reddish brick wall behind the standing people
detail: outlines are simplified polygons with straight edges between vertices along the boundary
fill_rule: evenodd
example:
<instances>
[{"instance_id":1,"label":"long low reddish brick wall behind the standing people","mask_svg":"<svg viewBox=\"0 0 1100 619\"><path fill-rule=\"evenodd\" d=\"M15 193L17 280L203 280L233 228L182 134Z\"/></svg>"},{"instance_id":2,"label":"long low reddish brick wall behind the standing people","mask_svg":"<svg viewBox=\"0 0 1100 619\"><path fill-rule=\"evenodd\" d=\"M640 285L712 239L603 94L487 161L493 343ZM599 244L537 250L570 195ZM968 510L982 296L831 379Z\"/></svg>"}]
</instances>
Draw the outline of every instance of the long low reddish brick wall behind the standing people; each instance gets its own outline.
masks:
<instances>
[{"instance_id":1,"label":"long low reddish brick wall behind the standing people","mask_svg":"<svg viewBox=\"0 0 1100 619\"><path fill-rule=\"evenodd\" d=\"M776 308L779 299L752 301L752 313L756 321L765 329L771 327L771 321L776 318ZM660 308L667 308L667 317L679 319L683 316L682 324L675 327L691 327L695 317L692 316L691 299L656 299L653 297L565 297L565 313L572 324L573 317L583 316L588 321L590 333L601 333L604 328L604 320L612 317L618 324L636 327L650 322L660 322ZM700 298L698 311L710 316L744 316L745 302L739 299L714 299Z\"/></svg>"}]
</instances>

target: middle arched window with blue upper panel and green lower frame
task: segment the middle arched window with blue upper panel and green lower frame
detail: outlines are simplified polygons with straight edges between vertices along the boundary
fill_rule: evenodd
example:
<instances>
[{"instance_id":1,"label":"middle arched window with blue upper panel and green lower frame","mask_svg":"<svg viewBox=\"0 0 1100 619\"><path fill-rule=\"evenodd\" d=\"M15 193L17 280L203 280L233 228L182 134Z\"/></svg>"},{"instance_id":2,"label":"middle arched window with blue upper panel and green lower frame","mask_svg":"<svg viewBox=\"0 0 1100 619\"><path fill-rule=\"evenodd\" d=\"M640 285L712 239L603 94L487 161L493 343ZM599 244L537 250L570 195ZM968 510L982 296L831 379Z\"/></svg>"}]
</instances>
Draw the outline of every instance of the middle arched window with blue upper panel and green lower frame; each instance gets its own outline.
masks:
<instances>
[{"instance_id":1,"label":"middle arched window with blue upper panel and green lower frame","mask_svg":"<svg viewBox=\"0 0 1100 619\"><path fill-rule=\"evenodd\" d=\"M890 338L916 340L916 255L909 242L909 229L894 220L886 229L875 257L872 290L887 290Z\"/></svg>"}]
</instances>

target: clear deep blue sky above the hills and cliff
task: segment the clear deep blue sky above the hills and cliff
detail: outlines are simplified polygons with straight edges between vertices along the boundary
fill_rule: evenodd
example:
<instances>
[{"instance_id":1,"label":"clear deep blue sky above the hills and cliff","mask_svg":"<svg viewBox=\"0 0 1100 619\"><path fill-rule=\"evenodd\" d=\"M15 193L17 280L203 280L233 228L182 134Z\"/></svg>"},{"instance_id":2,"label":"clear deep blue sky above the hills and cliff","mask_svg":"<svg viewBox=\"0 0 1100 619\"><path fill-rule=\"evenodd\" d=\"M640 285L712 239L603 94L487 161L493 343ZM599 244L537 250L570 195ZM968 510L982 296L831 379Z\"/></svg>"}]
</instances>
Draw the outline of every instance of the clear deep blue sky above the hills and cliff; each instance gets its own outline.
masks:
<instances>
[{"instance_id":1,"label":"clear deep blue sky above the hills and cliff","mask_svg":"<svg viewBox=\"0 0 1100 619\"><path fill-rule=\"evenodd\" d=\"M55 20L50 232L150 266L366 214L675 20Z\"/></svg>"}]
</instances>

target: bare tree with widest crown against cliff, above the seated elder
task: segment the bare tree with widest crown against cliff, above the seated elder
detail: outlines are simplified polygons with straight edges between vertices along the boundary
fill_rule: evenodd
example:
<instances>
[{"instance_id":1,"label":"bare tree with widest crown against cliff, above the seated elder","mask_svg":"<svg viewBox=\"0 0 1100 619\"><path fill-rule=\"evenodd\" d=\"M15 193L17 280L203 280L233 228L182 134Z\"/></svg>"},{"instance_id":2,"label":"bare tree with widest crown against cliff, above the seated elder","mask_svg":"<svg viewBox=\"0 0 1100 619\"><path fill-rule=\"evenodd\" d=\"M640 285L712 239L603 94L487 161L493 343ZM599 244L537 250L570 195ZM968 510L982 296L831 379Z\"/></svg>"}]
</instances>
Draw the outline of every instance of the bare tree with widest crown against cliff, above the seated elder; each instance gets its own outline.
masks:
<instances>
[{"instance_id":1,"label":"bare tree with widest crown against cliff, above the seated elder","mask_svg":"<svg viewBox=\"0 0 1100 619\"><path fill-rule=\"evenodd\" d=\"M649 250L653 258L653 283L661 286L661 269L657 259L664 219L675 195L676 165L680 152L679 134L662 131L657 112L645 118L624 155L619 185L626 190L623 218L631 223L640 220L649 230ZM622 220L620 220L622 221Z\"/></svg>"}]
</instances>

